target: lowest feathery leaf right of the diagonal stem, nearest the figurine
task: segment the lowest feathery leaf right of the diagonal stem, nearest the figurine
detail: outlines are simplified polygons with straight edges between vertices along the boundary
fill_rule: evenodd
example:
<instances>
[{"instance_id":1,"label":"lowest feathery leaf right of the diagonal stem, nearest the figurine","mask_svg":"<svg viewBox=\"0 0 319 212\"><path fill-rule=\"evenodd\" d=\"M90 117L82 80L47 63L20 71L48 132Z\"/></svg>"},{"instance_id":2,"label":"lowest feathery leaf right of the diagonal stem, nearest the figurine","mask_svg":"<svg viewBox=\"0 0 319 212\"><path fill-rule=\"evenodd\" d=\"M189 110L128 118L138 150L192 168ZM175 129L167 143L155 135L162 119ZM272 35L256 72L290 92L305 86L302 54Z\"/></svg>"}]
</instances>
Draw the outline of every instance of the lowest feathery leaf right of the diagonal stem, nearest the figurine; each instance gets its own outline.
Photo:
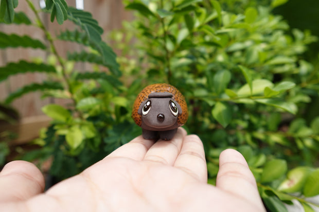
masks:
<instances>
[{"instance_id":1,"label":"lowest feathery leaf right of the diagonal stem, nearest the figurine","mask_svg":"<svg viewBox=\"0 0 319 212\"><path fill-rule=\"evenodd\" d=\"M108 81L111 85L114 87L120 87L122 83L115 78L112 75L109 75L105 72L82 72L82 73L77 73L76 75L77 80L106 80Z\"/></svg>"}]
</instances>

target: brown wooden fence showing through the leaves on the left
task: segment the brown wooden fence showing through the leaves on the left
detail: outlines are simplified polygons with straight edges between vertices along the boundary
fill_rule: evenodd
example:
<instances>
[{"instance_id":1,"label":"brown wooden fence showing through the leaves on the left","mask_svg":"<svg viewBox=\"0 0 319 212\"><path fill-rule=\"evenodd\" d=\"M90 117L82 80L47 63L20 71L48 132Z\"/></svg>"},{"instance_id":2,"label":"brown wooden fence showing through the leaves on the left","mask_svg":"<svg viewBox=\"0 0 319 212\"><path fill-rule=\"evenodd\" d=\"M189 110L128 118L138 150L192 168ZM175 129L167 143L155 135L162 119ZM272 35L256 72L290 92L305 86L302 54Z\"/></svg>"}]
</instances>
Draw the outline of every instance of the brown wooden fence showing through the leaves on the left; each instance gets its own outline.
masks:
<instances>
[{"instance_id":1,"label":"brown wooden fence showing through the leaves on the left","mask_svg":"<svg viewBox=\"0 0 319 212\"><path fill-rule=\"evenodd\" d=\"M33 0L34 5L40 8L40 0ZM76 6L76 0L66 0L69 6ZM99 25L104 29L104 35L113 29L121 27L123 20L131 20L132 13L126 11L122 1L120 0L84 0L84 10L91 12L93 17L99 22ZM31 19L34 17L33 12L28 8L26 1L19 0L19 5L15 11L25 12ZM48 14L41 14L42 20L46 25L46 28L52 33L59 33L61 29L65 29L72 23L64 23L62 26L55 23L51 23ZM32 38L37 38L43 42L44 35L41 30L38 30L33 26L24 25L5 25L0 24L0 31L6 33L15 33L19 35L27 34ZM103 36L104 36L103 35ZM102 38L103 38L102 36ZM67 50L79 48L78 45L73 43L59 43L57 41L56 46L60 55L65 56ZM30 60L34 57L42 57L44 59L47 55L42 50L25 49L25 48L10 48L0 49L0 66L4 66L8 62L16 62L19 60ZM85 69L85 66L83 67ZM7 80L0 82L0 101L3 101L10 92L20 88L23 85L30 84L32 82L42 82L45 80L45 76L41 73L27 73L14 75ZM49 103L63 104L62 100L57 99L41 99L40 93L30 93L15 100L12 106L19 112L21 122L19 127L15 130L20 134L18 142L23 142L33 138L39 132L39 127L48 124L48 120L43 118L41 107ZM39 124L40 123L40 124ZM9 127L12 129L12 126ZM7 126L0 126L0 132L8 129ZM21 134L22 132L27 134ZM34 131L34 132L31 132Z\"/></svg>"}]
</instances>

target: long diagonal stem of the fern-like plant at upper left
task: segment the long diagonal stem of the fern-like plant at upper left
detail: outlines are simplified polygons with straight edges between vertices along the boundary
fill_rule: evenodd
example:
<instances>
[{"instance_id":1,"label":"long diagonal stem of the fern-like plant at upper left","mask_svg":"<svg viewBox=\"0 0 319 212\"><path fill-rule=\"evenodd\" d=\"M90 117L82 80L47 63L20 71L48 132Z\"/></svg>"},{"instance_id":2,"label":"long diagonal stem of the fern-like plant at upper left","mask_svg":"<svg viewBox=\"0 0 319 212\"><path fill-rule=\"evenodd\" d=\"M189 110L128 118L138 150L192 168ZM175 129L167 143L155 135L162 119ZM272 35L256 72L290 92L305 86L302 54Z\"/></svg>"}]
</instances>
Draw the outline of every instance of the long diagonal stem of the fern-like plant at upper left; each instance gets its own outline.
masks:
<instances>
[{"instance_id":1,"label":"long diagonal stem of the fern-like plant at upper left","mask_svg":"<svg viewBox=\"0 0 319 212\"><path fill-rule=\"evenodd\" d=\"M57 57L57 59L59 61L59 64L62 67L63 80L66 83L67 90L68 90L69 95L70 95L70 99L72 99L74 105L76 106L77 101L76 101L76 99L74 97L74 94L73 94L73 91L72 91L72 86L70 85L70 82L68 80L68 76L67 76L66 68L65 68L65 62L63 61L62 57L59 55L59 53L57 51L57 48L54 45L54 40L53 40L50 32L45 28L43 22L41 21L41 18L39 16L39 13L38 13L37 9L34 7L33 3L30 0L26 0L26 2L28 3L28 5L31 8L31 10L33 11L33 13L36 15L36 19L37 19L36 21L38 23L38 26L44 32L45 37L46 37L47 41L50 44L50 49L51 49L52 53Z\"/></svg>"}]
</instances>

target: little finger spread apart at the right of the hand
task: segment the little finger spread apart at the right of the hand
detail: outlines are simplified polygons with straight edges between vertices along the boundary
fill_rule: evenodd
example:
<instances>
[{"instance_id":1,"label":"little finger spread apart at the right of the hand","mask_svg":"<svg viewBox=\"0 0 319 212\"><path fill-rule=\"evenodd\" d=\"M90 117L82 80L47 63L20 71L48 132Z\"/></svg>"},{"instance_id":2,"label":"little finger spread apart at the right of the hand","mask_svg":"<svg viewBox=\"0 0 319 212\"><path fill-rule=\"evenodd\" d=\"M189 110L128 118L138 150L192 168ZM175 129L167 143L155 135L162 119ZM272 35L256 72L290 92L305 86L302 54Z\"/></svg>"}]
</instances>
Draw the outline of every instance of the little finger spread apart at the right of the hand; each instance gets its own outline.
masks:
<instances>
[{"instance_id":1,"label":"little finger spread apart at the right of the hand","mask_svg":"<svg viewBox=\"0 0 319 212\"><path fill-rule=\"evenodd\" d=\"M234 149L219 156L216 187L263 208L256 180L244 157Z\"/></svg>"}]
</instances>

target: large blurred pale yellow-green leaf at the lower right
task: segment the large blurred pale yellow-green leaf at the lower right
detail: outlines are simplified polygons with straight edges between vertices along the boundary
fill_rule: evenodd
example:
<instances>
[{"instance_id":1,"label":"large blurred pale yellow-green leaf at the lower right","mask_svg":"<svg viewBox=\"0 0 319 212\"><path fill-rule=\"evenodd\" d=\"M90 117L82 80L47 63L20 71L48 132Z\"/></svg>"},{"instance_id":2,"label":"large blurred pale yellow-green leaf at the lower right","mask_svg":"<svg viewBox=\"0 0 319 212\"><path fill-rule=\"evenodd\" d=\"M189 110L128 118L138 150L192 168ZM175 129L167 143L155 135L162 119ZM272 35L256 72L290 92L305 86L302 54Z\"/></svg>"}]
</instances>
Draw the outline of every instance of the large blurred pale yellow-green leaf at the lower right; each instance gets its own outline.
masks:
<instances>
[{"instance_id":1,"label":"large blurred pale yellow-green leaf at the lower right","mask_svg":"<svg viewBox=\"0 0 319 212\"><path fill-rule=\"evenodd\" d=\"M301 191L311 171L311 168L303 166L288 171L287 179L279 185L278 190L288 193Z\"/></svg>"}]
</instances>

